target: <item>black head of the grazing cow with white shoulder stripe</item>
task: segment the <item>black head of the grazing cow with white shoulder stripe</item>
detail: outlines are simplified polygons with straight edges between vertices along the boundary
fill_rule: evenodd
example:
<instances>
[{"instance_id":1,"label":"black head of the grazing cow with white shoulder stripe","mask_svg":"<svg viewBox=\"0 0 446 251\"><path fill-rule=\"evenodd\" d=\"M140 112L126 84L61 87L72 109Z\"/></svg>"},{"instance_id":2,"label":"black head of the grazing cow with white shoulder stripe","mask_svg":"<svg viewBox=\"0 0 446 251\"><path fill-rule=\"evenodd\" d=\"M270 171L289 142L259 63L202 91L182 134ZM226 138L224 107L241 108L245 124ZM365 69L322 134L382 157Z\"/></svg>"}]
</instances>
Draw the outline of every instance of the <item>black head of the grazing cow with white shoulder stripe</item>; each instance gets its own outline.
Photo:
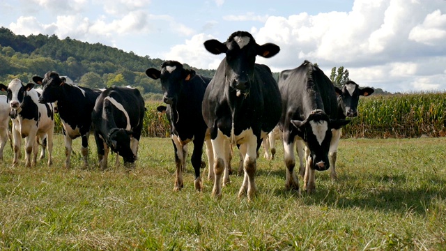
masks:
<instances>
[{"instance_id":1,"label":"black head of the grazing cow with white shoulder stripe","mask_svg":"<svg viewBox=\"0 0 446 251\"><path fill-rule=\"evenodd\" d=\"M133 132L122 128L113 128L110 130L107 136L107 145L114 151L121 155L124 162L134 162L137 160L137 156L134 155L132 149L130 149L130 138Z\"/></svg>"}]
</instances>

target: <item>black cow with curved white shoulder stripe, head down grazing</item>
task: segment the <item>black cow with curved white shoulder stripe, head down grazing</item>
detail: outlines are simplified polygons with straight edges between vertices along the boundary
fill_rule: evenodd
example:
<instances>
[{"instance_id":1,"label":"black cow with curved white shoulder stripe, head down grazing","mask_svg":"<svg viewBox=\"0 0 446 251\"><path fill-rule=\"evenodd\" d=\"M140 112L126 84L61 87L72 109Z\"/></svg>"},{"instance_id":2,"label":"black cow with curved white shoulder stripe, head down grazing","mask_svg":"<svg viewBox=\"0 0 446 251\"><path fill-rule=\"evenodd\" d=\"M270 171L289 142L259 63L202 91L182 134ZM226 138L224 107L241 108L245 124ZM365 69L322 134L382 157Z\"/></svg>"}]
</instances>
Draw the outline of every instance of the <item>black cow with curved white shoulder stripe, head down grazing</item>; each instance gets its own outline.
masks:
<instances>
[{"instance_id":1,"label":"black cow with curved white shoulder stripe, head down grazing","mask_svg":"<svg viewBox=\"0 0 446 251\"><path fill-rule=\"evenodd\" d=\"M100 168L107 169L109 149L123 158L126 167L137 160L145 112L138 89L112 86L100 93L91 113Z\"/></svg>"}]
</instances>

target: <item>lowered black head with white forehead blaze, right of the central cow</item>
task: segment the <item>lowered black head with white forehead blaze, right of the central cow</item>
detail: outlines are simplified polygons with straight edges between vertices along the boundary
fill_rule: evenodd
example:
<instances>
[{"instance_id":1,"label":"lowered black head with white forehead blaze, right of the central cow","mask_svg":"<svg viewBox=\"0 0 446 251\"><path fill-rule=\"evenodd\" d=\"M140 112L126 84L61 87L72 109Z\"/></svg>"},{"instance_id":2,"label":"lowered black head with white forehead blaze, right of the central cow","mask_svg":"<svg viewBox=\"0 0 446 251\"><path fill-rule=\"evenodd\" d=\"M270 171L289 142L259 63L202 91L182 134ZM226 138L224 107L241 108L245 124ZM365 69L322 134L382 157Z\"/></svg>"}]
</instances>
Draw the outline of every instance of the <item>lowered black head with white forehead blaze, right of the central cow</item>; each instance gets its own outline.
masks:
<instances>
[{"instance_id":1,"label":"lowered black head with white forehead blaze, right of the central cow","mask_svg":"<svg viewBox=\"0 0 446 251\"><path fill-rule=\"evenodd\" d=\"M346 126L345 119L331 120L321 109L316 109L305 121L292 120L299 137L305 140L309 149L312 168L323 171L330 167L328 151L332 140L332 130Z\"/></svg>"}]
</instances>

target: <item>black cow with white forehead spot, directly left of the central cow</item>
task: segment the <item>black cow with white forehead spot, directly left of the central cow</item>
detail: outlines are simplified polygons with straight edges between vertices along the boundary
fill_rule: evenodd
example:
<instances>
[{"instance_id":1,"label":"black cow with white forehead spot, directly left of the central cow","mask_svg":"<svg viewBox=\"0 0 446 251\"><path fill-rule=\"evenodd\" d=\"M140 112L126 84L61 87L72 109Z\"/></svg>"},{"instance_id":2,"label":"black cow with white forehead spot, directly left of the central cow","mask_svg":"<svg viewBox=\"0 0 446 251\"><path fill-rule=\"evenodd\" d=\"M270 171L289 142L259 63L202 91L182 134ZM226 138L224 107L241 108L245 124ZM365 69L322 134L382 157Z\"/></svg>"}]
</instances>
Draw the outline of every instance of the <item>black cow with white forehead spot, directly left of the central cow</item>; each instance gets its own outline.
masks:
<instances>
[{"instance_id":1,"label":"black cow with white forehead spot, directly left of the central cow","mask_svg":"<svg viewBox=\"0 0 446 251\"><path fill-rule=\"evenodd\" d=\"M163 101L167 107L160 107L158 110L164 110L169 120L176 162L174 190L181 190L184 186L183 170L186 165L187 144L192 142L194 149L190 161L195 172L194 187L195 190L201 191L203 183L200 168L204 166L201 156L208 128L201 115L201 102L210 78L197 75L192 69L185 69L178 61L164 61L160 70L148 68L146 75L152 79L160 79L164 92ZM210 139L206 146L207 153L211 153ZM208 160L212 162L210 158Z\"/></svg>"}]
</instances>

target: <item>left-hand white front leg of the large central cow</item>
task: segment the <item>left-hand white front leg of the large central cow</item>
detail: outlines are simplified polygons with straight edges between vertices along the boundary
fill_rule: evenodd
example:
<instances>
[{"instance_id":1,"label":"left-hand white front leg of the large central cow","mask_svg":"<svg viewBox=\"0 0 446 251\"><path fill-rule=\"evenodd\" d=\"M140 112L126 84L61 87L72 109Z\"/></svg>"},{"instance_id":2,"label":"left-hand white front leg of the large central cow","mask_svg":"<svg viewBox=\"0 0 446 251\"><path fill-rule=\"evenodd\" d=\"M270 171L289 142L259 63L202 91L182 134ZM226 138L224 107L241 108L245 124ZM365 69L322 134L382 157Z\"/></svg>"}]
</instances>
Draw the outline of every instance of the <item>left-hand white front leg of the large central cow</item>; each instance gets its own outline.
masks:
<instances>
[{"instance_id":1,"label":"left-hand white front leg of the large central cow","mask_svg":"<svg viewBox=\"0 0 446 251\"><path fill-rule=\"evenodd\" d=\"M227 154L226 145L229 144L229 139L223 135L223 133L218 130L217 137L211 140L212 147L214 150L214 188L212 190L212 196L215 198L222 197L222 174L227 165L228 160L226 160Z\"/></svg>"}]
</instances>

